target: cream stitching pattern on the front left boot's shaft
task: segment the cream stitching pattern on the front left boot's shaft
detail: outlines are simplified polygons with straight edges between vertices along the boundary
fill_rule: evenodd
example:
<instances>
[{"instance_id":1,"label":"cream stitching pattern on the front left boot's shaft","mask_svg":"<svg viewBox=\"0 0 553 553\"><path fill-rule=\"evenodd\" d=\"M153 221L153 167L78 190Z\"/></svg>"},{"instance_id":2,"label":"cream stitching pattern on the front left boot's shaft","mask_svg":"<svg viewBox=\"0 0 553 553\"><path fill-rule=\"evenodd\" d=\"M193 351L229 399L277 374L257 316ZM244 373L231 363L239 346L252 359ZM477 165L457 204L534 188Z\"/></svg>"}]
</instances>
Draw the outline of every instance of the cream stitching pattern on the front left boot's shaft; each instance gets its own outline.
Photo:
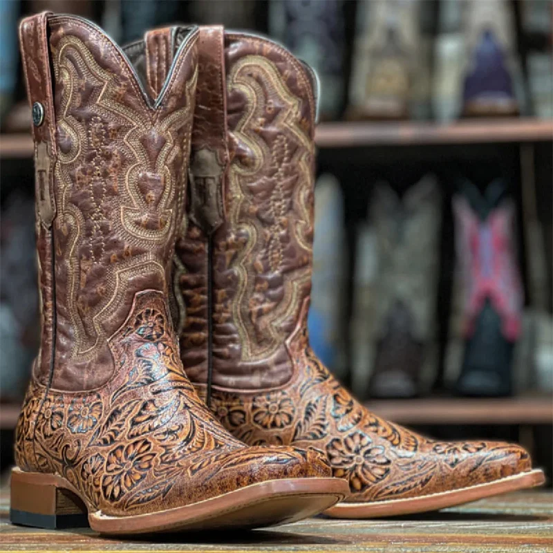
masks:
<instances>
[{"instance_id":1,"label":"cream stitching pattern on the front left boot's shaft","mask_svg":"<svg viewBox=\"0 0 553 553\"><path fill-rule=\"evenodd\" d=\"M68 55L70 51L71 56ZM184 62L181 59L180 66L182 63ZM174 229L176 222L174 209L168 206L173 203L177 179L185 178L186 171L181 171L182 174L171 174L169 168L172 167L177 156L182 156L181 144L189 148L188 135L194 106L197 69L185 83L184 90L180 89L179 82L179 90L171 91L174 95L184 96L185 106L170 111L167 117L161 118L160 111L137 113L122 104L121 94L126 94L126 90L120 91L115 75L104 71L95 62L88 48L76 37L66 35L60 39L54 68L57 79L61 79L64 83L60 124L64 131L68 132L72 142L71 151L66 155L60 155L59 164L56 166L56 182L59 196L62 198L57 225L62 232L68 234L64 259L67 267L67 310L75 330L72 357L91 359L95 355L95 347L106 338L100 321L109 320L111 314L117 312L122 305L128 281L139 274L158 273L161 281L165 282L167 267L160 262L155 253L151 253L151 242L157 243L156 249L160 248L158 251L162 251L163 244L167 241L167 236ZM87 79L87 84L95 85L96 89L100 90L97 98L92 98L88 106L93 114L89 121L88 133L84 124L68 115L74 106L79 106L82 102L78 84L79 79L83 78L82 75ZM109 132L107 122L113 124L114 129L124 132L122 144L125 147L120 151L114 152L111 149L111 138L107 136ZM147 152L141 142L141 138L152 129L156 129L166 141L155 160L155 167L150 166ZM185 135L184 140L180 138L182 134ZM82 159L84 151L93 152L91 161ZM115 158L118 160L117 165L109 165ZM183 156L182 159L186 164L187 158ZM78 187L75 174L79 167L82 168L84 191L90 192L91 211L87 211L86 216L91 227L91 234L88 237L85 230L86 218L71 201L75 187ZM95 173L91 174L91 170ZM105 212L108 201L107 177L104 172L106 170L110 171L109 178L113 180L112 187L115 195L111 201L113 201L113 211L120 212L119 218L114 218ZM138 216L144 214L144 209L149 209L138 187L139 170L156 171L163 179L164 187L159 203L157 207L152 206L153 210L150 212L152 216L158 217L159 221L165 220L165 224L160 225L162 226L160 229L146 229L136 223ZM97 179L101 182L93 186L92 182ZM182 194L181 188L182 186L178 188L179 194ZM99 193L98 196L95 196L95 193ZM118 256L115 263L104 259L106 257L104 227L108 227L110 236L117 236L126 244L123 254L126 255L128 249L128 259L123 255ZM79 249L82 252L85 241L89 244L89 254L86 258L78 259ZM99 244L100 251L95 251L93 244L96 243ZM147 253L133 255L133 250ZM58 253L62 254L61 251ZM100 294L100 301L93 307L81 303L79 312L77 290L86 288L87 274L96 263L102 264L105 270L104 277L98 284L102 287L102 292L101 294L96 292Z\"/></svg>"}]
</instances>

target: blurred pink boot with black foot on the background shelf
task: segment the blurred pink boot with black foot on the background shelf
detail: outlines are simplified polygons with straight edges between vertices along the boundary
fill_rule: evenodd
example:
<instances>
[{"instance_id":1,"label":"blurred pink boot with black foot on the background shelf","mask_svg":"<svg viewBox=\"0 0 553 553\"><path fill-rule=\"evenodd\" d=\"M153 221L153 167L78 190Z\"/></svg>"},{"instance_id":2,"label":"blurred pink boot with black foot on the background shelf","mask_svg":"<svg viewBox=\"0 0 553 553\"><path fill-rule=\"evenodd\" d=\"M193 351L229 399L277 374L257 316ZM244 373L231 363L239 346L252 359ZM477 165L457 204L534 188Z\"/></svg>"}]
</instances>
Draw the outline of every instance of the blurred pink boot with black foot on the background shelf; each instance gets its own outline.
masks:
<instances>
[{"instance_id":1,"label":"blurred pink boot with black foot on the background shelf","mask_svg":"<svg viewBox=\"0 0 553 553\"><path fill-rule=\"evenodd\" d=\"M464 181L453 197L463 288L465 353L460 395L512 393L514 346L521 336L523 286L514 247L514 205L501 179L485 194Z\"/></svg>"}]
</instances>

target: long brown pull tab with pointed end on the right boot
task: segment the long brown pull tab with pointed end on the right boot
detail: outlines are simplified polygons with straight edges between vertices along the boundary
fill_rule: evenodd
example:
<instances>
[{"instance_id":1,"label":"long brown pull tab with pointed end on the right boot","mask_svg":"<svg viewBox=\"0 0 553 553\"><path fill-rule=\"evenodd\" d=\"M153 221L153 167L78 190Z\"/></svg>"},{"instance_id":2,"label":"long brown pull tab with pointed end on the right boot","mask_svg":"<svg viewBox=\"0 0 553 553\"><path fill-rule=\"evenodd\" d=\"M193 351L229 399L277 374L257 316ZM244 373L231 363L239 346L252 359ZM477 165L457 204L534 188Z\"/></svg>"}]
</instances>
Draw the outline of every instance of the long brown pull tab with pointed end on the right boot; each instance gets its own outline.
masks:
<instances>
[{"instance_id":1,"label":"long brown pull tab with pointed end on the right boot","mask_svg":"<svg viewBox=\"0 0 553 553\"><path fill-rule=\"evenodd\" d=\"M224 41L222 26L200 27L189 216L206 234L212 234L225 219L223 176L229 162L229 151Z\"/></svg>"}]
</instances>

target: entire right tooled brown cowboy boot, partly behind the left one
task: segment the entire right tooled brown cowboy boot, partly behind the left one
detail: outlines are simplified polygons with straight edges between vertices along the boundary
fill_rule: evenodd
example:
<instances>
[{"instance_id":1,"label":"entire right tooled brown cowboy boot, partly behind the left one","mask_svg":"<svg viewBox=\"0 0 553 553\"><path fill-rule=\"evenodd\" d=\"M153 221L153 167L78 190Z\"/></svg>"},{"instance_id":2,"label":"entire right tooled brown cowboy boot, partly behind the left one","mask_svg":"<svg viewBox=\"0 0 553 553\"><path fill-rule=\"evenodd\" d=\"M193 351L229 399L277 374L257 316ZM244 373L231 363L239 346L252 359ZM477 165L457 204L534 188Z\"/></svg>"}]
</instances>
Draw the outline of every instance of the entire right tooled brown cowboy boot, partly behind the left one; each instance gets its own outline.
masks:
<instances>
[{"instance_id":1,"label":"entire right tooled brown cowboy boot, partly behind the left one","mask_svg":"<svg viewBox=\"0 0 553 553\"><path fill-rule=\"evenodd\" d=\"M379 419L315 357L314 76L263 37L225 32L223 42L200 28L199 44L174 285L182 361L216 417L248 444L326 453L352 491L331 516L419 512L542 482L517 445L437 442Z\"/></svg>"}]
</instances>

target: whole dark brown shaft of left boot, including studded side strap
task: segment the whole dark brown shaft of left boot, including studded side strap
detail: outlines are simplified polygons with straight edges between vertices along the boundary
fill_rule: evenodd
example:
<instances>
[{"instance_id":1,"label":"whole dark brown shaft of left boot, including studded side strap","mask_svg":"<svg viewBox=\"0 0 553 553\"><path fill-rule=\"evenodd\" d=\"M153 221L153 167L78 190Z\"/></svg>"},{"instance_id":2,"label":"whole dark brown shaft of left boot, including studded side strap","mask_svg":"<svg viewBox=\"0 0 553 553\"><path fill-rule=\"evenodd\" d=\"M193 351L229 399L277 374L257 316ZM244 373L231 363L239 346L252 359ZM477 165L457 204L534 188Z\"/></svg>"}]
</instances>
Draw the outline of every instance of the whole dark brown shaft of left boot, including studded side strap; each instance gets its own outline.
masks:
<instances>
[{"instance_id":1,"label":"whole dark brown shaft of left boot, including studded side strap","mask_svg":"<svg viewBox=\"0 0 553 553\"><path fill-rule=\"evenodd\" d=\"M35 139L39 384L102 386L115 371L107 340L135 294L167 292L185 198L197 37L187 33L154 97L88 21L44 13L21 24Z\"/></svg>"}]
</instances>

